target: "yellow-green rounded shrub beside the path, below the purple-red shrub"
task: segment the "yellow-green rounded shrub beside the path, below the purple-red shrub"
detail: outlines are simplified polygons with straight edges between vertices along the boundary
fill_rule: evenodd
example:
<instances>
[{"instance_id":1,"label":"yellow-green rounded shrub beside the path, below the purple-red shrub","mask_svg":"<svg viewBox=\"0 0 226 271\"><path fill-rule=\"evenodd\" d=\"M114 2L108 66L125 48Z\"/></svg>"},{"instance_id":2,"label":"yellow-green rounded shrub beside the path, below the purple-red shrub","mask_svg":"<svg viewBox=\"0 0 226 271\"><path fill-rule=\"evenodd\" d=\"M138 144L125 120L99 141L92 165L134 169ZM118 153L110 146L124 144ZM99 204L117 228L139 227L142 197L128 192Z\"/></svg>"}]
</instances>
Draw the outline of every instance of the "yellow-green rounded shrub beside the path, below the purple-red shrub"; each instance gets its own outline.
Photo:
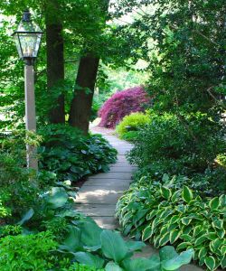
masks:
<instances>
[{"instance_id":1,"label":"yellow-green rounded shrub beside the path, below the purple-red shrub","mask_svg":"<svg viewBox=\"0 0 226 271\"><path fill-rule=\"evenodd\" d=\"M137 136L137 133L134 133L138 129L146 126L150 123L150 116L141 112L132 113L126 117L123 117L121 122L119 122L116 131L120 138L122 139L132 139L132 136ZM132 132L132 133L131 133Z\"/></svg>"}]
</instances>

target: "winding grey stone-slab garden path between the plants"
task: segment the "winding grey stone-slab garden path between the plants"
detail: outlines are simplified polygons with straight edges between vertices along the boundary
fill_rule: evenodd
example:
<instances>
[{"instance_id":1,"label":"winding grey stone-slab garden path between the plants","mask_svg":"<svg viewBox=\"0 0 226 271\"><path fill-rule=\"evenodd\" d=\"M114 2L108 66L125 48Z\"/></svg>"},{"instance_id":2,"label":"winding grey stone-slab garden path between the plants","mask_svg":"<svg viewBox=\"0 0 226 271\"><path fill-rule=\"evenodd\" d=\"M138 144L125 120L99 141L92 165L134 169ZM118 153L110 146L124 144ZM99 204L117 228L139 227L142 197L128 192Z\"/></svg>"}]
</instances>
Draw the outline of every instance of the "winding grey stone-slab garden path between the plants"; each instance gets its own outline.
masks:
<instances>
[{"instance_id":1,"label":"winding grey stone-slab garden path between the plants","mask_svg":"<svg viewBox=\"0 0 226 271\"><path fill-rule=\"evenodd\" d=\"M123 192L128 189L132 174L136 170L135 166L128 164L125 156L133 145L118 139L112 129L92 126L90 130L95 134L103 135L110 145L118 150L118 161L110 166L108 173L92 175L84 182L76 198L76 209L95 220L101 228L118 229L118 220L115 218L116 204ZM135 257L150 257L156 252L155 248L147 245ZM180 270L202 271L203 269L187 265Z\"/></svg>"}]
</instances>

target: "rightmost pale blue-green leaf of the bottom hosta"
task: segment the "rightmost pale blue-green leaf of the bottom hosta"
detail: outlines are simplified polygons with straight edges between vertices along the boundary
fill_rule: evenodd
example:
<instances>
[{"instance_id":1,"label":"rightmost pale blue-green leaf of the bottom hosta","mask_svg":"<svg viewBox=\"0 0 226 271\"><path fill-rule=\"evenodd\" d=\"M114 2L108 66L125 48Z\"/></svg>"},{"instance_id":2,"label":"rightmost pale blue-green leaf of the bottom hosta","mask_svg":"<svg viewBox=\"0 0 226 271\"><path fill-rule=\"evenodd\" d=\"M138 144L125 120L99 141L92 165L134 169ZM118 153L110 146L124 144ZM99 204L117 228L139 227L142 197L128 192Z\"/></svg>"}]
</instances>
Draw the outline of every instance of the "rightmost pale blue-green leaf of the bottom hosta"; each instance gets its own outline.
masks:
<instances>
[{"instance_id":1,"label":"rightmost pale blue-green leaf of the bottom hosta","mask_svg":"<svg viewBox=\"0 0 226 271\"><path fill-rule=\"evenodd\" d=\"M181 266L189 264L193 258L193 254L194 254L193 249L188 249L187 251L182 252L180 255L176 257L164 260L161 263L161 266L165 270L176 270Z\"/></svg>"}]
</instances>

